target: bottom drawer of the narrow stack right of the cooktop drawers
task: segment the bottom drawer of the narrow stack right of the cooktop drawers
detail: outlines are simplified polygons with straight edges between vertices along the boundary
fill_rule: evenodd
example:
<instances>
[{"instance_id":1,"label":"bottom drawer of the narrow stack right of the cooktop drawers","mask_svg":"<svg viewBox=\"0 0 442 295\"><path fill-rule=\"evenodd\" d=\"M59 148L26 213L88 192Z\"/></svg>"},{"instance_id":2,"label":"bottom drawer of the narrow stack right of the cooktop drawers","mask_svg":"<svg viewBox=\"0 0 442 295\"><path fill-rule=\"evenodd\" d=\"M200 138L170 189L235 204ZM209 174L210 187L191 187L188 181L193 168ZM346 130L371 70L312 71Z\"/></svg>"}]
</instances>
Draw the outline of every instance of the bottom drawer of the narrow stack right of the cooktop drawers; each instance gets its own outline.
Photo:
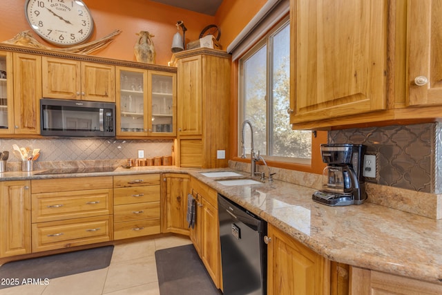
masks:
<instances>
[{"instance_id":1,"label":"bottom drawer of the narrow stack right of the cooktop drawers","mask_svg":"<svg viewBox=\"0 0 442 295\"><path fill-rule=\"evenodd\" d=\"M118 222L113 229L115 240L160 234L160 218Z\"/></svg>"}]
</instances>

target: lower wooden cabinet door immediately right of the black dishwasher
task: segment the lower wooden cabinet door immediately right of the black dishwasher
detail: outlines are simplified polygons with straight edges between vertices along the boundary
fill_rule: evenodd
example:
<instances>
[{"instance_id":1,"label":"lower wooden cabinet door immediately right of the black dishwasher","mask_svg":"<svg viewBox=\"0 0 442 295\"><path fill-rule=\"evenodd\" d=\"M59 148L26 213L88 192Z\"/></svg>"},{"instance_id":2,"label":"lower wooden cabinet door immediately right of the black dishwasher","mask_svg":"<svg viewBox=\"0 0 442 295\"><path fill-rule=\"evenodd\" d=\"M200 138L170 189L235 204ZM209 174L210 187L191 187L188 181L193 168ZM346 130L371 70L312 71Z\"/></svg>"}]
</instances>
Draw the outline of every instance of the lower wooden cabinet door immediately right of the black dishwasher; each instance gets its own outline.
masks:
<instances>
[{"instance_id":1,"label":"lower wooden cabinet door immediately right of the black dishwasher","mask_svg":"<svg viewBox=\"0 0 442 295\"><path fill-rule=\"evenodd\" d=\"M273 225L267 248L267 294L330 294L330 263Z\"/></svg>"}]
</instances>

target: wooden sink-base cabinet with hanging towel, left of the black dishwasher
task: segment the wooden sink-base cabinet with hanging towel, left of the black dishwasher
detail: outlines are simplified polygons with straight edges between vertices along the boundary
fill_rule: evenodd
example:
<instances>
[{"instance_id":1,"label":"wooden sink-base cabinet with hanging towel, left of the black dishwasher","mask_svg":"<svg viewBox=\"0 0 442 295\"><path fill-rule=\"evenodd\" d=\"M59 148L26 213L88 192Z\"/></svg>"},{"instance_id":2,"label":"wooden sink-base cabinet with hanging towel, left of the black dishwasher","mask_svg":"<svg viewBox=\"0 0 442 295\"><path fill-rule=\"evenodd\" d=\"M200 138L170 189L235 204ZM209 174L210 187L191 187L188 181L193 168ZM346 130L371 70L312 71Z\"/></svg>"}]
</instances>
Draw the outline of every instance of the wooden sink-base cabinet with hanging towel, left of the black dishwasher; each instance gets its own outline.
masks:
<instances>
[{"instance_id":1,"label":"wooden sink-base cabinet with hanging towel, left of the black dishwasher","mask_svg":"<svg viewBox=\"0 0 442 295\"><path fill-rule=\"evenodd\" d=\"M191 240L207 272L217 288L221 287L221 247L218 221L218 193L206 184L191 178L195 198L196 220Z\"/></svg>"}]
</instances>

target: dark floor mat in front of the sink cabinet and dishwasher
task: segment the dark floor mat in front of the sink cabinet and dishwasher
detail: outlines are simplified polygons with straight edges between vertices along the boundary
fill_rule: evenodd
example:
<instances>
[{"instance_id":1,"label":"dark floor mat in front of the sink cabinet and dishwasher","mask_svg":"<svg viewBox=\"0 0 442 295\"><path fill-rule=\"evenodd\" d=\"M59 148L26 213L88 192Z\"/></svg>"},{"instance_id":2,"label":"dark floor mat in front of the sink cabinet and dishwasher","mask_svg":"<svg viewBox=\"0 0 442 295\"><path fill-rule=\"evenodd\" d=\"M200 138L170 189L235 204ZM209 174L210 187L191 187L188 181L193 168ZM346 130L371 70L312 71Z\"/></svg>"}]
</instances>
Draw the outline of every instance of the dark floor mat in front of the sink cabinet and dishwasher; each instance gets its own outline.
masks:
<instances>
[{"instance_id":1,"label":"dark floor mat in front of the sink cabinet and dishwasher","mask_svg":"<svg viewBox=\"0 0 442 295\"><path fill-rule=\"evenodd\" d=\"M155 251L161 295L220 295L193 245Z\"/></svg>"}]
</instances>

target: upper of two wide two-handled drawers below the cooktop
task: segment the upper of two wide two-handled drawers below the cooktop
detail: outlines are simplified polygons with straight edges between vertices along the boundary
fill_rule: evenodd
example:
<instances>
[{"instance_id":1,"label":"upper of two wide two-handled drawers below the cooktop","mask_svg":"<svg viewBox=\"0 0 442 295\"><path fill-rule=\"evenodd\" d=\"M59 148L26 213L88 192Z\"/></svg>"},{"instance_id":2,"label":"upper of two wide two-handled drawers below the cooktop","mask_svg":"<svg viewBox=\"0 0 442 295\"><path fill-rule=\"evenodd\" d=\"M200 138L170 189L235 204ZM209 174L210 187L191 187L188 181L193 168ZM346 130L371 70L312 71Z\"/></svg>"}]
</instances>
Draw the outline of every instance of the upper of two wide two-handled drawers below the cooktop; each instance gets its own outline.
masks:
<instances>
[{"instance_id":1,"label":"upper of two wide two-handled drawers below the cooktop","mask_svg":"<svg viewBox=\"0 0 442 295\"><path fill-rule=\"evenodd\" d=\"M32 194L32 223L113 213L113 190Z\"/></svg>"}]
</instances>

